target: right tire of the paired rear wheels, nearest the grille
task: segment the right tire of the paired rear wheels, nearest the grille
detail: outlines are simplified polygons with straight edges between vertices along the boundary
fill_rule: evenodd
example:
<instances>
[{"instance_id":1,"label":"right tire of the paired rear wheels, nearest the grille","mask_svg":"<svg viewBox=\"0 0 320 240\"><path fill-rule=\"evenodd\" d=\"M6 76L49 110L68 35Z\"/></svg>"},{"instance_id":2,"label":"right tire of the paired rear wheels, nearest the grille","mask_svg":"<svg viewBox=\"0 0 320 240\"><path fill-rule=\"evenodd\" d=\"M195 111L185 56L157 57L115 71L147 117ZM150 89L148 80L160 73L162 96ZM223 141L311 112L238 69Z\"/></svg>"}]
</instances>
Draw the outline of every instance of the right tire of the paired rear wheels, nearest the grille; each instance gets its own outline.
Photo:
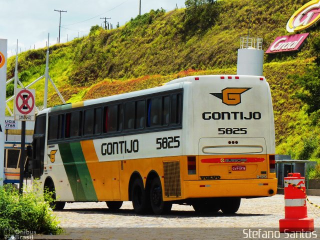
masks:
<instances>
[{"instance_id":1,"label":"right tire of the paired rear wheels, nearest the grille","mask_svg":"<svg viewBox=\"0 0 320 240\"><path fill-rule=\"evenodd\" d=\"M172 207L172 203L163 201L161 181L158 177L154 177L151 182L150 203L154 214L168 213Z\"/></svg>"}]
</instances>

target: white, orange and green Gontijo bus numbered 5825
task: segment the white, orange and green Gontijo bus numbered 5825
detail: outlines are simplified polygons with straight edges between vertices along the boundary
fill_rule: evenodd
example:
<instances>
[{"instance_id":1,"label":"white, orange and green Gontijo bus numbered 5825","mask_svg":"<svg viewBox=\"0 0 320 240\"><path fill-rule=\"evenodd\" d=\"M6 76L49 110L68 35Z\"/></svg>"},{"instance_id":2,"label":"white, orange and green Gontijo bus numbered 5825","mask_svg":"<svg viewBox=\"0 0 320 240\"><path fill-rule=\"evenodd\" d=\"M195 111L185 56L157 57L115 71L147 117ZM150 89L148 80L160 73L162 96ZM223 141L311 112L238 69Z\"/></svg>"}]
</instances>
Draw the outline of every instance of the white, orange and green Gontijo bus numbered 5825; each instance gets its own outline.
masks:
<instances>
[{"instance_id":1,"label":"white, orange and green Gontijo bus numbered 5825","mask_svg":"<svg viewBox=\"0 0 320 240\"><path fill-rule=\"evenodd\" d=\"M56 209L129 200L136 213L234 213L240 198L276 193L274 152L265 78L205 75L40 111L30 166Z\"/></svg>"}]
</instances>

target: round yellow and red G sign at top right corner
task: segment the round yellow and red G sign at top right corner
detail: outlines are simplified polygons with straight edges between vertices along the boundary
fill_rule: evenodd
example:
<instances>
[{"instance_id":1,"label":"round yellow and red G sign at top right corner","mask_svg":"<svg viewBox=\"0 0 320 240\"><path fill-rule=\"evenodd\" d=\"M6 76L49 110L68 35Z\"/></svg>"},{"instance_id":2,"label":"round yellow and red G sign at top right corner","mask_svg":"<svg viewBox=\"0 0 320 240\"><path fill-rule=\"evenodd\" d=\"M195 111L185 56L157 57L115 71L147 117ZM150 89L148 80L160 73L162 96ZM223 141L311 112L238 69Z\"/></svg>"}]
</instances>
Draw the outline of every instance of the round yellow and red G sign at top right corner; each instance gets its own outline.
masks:
<instances>
[{"instance_id":1,"label":"round yellow and red G sign at top right corner","mask_svg":"<svg viewBox=\"0 0 320 240\"><path fill-rule=\"evenodd\" d=\"M312 0L301 6L286 23L288 32L304 30L320 19L320 0Z\"/></svg>"}]
</instances>

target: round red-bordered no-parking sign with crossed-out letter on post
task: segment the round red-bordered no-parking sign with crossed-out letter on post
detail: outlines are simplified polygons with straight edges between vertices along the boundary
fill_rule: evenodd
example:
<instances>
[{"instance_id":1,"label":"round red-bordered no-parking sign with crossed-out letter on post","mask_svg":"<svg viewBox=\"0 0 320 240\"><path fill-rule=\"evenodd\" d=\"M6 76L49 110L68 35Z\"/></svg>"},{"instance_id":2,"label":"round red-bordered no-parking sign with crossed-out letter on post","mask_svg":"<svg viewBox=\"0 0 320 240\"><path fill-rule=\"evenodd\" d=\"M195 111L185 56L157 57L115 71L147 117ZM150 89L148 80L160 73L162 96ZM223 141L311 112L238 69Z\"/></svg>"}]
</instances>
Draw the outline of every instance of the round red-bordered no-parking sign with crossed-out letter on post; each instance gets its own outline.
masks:
<instances>
[{"instance_id":1,"label":"round red-bordered no-parking sign with crossed-out letter on post","mask_svg":"<svg viewBox=\"0 0 320 240\"><path fill-rule=\"evenodd\" d=\"M29 114L34 108L34 94L28 89L20 90L15 96L15 107L20 114Z\"/></svg>"}]
</instances>

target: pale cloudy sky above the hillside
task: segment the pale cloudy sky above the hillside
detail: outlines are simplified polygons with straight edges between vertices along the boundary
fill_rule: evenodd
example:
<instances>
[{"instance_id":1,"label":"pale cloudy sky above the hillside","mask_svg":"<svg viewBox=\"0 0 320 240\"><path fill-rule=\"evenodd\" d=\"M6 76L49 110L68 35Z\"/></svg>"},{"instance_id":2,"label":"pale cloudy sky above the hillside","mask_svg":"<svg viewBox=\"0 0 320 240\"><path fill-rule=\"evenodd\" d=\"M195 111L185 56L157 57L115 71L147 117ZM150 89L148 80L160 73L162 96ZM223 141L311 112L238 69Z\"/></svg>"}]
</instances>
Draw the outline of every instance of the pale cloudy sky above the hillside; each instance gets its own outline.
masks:
<instances>
[{"instance_id":1,"label":"pale cloudy sky above the hillside","mask_svg":"<svg viewBox=\"0 0 320 240\"><path fill-rule=\"evenodd\" d=\"M185 0L141 0L141 14L150 9L166 11L184 7ZM61 12L60 43L89 33L90 27L100 25L104 17L112 23L123 25L139 13L139 0L0 0L0 38L7 39L8 57L33 48L56 44L59 34L59 12Z\"/></svg>"}]
</instances>

